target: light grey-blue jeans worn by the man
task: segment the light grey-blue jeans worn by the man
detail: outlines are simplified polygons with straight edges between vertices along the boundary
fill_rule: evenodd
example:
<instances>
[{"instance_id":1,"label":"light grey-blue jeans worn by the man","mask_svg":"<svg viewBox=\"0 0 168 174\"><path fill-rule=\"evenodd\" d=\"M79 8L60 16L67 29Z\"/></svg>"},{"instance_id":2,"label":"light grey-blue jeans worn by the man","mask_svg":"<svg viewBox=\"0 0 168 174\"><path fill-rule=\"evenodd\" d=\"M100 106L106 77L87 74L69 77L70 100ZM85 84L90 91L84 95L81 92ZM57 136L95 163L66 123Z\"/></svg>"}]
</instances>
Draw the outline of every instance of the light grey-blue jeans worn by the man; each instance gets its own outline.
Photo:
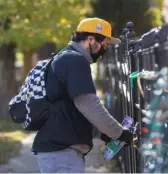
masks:
<instances>
[{"instance_id":1,"label":"light grey-blue jeans worn by the man","mask_svg":"<svg viewBox=\"0 0 168 174\"><path fill-rule=\"evenodd\" d=\"M37 154L41 173L84 173L85 160L81 153L73 149Z\"/></svg>"}]
</instances>

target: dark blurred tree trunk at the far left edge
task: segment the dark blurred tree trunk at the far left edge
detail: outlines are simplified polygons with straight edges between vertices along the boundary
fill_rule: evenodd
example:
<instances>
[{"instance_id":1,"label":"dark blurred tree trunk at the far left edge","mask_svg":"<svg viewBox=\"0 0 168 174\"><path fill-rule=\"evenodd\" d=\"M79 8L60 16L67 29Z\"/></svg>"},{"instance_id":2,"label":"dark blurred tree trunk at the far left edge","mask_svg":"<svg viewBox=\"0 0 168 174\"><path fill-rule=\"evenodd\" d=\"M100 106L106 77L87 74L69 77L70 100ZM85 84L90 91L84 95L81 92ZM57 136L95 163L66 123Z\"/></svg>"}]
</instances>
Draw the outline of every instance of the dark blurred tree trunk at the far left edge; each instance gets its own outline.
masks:
<instances>
[{"instance_id":1,"label":"dark blurred tree trunk at the far left edge","mask_svg":"<svg viewBox=\"0 0 168 174\"><path fill-rule=\"evenodd\" d=\"M0 46L0 116L7 116L8 103L16 94L15 45Z\"/></svg>"}]
</instances>

